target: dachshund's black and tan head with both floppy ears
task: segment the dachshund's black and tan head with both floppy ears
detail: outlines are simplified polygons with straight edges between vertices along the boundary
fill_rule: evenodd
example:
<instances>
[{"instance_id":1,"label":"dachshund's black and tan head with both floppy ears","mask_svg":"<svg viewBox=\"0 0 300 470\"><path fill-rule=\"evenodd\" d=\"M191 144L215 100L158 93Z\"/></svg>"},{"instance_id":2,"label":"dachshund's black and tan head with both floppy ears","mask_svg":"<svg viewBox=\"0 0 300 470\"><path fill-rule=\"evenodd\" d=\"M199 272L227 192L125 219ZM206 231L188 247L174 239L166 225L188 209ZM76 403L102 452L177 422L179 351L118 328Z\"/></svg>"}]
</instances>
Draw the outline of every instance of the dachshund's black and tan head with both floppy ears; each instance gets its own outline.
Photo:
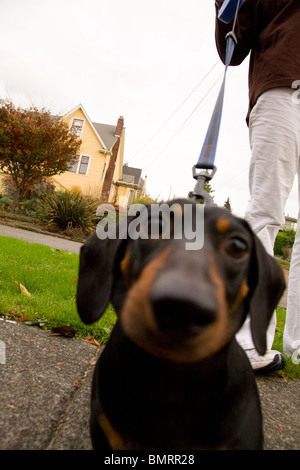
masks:
<instances>
[{"instance_id":1,"label":"dachshund's black and tan head with both floppy ears","mask_svg":"<svg viewBox=\"0 0 300 470\"><path fill-rule=\"evenodd\" d=\"M167 207L167 236L166 220L150 205L142 220L129 216L114 236L100 240L94 234L82 247L81 319L96 321L111 302L135 344L155 356L189 362L225 346L250 313L253 341L263 354L285 287L282 269L247 222L226 209L205 207L203 219L189 200ZM199 231L204 244L191 249L190 234Z\"/></svg>"}]
</instances>

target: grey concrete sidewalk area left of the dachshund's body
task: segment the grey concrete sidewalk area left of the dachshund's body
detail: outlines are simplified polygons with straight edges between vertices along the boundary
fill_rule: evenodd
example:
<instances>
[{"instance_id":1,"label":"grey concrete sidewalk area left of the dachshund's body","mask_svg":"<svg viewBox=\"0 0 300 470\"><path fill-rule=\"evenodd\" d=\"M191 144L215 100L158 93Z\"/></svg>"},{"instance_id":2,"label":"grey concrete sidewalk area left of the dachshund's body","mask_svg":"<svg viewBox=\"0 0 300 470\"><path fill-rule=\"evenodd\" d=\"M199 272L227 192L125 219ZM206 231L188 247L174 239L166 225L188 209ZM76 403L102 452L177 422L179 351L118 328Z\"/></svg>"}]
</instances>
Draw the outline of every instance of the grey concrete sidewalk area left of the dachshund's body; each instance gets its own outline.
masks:
<instances>
[{"instance_id":1,"label":"grey concrete sidewalk area left of the dachshund's body","mask_svg":"<svg viewBox=\"0 0 300 470\"><path fill-rule=\"evenodd\" d=\"M0 449L90 449L97 347L7 321L0 340Z\"/></svg>"}]
</instances>

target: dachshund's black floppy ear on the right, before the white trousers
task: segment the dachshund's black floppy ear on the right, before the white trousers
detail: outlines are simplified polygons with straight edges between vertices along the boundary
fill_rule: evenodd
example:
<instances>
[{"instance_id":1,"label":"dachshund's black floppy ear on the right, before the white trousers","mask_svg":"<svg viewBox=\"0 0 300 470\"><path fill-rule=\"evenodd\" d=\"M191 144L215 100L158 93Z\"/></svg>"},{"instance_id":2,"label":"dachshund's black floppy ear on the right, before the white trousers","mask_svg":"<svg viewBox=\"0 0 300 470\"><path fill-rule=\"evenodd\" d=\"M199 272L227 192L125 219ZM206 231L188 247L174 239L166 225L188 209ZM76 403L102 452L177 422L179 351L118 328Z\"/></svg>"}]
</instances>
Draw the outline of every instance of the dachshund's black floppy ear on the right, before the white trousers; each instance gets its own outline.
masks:
<instances>
[{"instance_id":1,"label":"dachshund's black floppy ear on the right, before the white trousers","mask_svg":"<svg viewBox=\"0 0 300 470\"><path fill-rule=\"evenodd\" d=\"M258 353L264 354L267 328L284 292L285 279L282 268L254 234L249 285L252 338Z\"/></svg>"}]
</instances>

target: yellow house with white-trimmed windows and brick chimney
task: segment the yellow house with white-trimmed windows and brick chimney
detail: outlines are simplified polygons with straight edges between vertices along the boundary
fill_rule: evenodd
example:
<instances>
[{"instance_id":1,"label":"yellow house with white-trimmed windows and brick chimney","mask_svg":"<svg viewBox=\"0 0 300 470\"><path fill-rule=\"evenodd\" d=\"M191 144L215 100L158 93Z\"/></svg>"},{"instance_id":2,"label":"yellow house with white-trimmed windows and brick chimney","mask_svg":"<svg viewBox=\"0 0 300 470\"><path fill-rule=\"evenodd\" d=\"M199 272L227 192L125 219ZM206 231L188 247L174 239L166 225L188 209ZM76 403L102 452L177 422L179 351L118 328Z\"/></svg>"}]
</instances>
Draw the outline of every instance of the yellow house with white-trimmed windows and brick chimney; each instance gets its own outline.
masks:
<instances>
[{"instance_id":1,"label":"yellow house with white-trimmed windows and brick chimney","mask_svg":"<svg viewBox=\"0 0 300 470\"><path fill-rule=\"evenodd\" d=\"M116 125L99 124L90 120L80 104L62 119L76 132L82 143L69 170L51 178L56 189L77 188L83 194L103 202L126 207L136 192L142 190L143 180L126 174L123 116L119 117ZM133 170L141 173L139 169Z\"/></svg>"}]
</instances>

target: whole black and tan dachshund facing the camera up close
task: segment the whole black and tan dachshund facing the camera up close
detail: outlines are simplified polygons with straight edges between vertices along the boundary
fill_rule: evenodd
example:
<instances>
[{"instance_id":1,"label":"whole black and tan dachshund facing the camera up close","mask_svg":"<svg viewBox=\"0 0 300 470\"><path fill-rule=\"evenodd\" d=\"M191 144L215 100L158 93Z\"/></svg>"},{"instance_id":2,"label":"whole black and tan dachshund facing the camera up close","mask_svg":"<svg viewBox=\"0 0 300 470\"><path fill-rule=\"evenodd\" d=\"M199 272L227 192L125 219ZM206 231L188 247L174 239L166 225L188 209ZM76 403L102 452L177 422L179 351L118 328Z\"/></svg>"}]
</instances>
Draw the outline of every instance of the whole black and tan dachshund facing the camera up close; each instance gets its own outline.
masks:
<instances>
[{"instance_id":1,"label":"whole black and tan dachshund facing the camera up close","mask_svg":"<svg viewBox=\"0 0 300 470\"><path fill-rule=\"evenodd\" d=\"M196 212L174 202L183 216L190 204ZM146 224L159 225L150 207ZM81 319L96 321L110 302L118 316L93 378L93 447L262 449L255 377L235 335L249 313L264 353L282 270L226 209L205 207L201 249L172 230L169 239L94 234L81 249Z\"/></svg>"}]
</instances>

